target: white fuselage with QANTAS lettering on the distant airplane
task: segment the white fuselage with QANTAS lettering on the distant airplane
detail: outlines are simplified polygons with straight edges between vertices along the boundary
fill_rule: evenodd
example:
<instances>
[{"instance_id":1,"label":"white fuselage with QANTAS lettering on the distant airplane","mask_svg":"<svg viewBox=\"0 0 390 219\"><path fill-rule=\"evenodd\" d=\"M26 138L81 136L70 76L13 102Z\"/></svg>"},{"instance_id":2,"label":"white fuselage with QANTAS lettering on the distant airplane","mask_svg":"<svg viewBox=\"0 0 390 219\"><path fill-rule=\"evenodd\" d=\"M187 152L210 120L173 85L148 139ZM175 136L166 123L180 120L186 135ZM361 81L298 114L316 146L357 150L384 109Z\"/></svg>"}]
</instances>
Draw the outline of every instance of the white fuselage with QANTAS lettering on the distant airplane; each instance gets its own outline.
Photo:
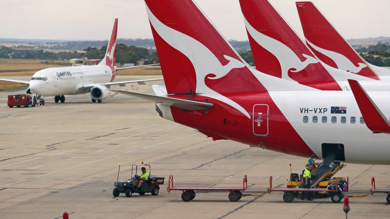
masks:
<instances>
[{"instance_id":1,"label":"white fuselage with QANTAS lettering on the distant airplane","mask_svg":"<svg viewBox=\"0 0 390 219\"><path fill-rule=\"evenodd\" d=\"M48 68L36 72L30 80L30 89L42 96L85 94L85 85L108 83L115 77L115 70L107 65L89 65Z\"/></svg>"}]
</instances>

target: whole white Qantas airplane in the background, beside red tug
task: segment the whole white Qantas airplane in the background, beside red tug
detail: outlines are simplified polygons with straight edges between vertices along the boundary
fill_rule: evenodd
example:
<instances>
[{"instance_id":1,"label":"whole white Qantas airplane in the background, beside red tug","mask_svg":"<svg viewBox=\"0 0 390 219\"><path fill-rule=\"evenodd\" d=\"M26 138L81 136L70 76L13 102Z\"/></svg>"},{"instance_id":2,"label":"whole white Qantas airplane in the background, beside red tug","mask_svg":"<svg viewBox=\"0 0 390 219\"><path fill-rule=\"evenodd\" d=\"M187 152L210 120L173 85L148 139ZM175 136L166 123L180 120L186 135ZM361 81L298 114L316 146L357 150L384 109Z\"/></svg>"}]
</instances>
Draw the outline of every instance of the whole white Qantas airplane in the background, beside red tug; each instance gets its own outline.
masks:
<instances>
[{"instance_id":1,"label":"whole white Qantas airplane in the background, beside red tug","mask_svg":"<svg viewBox=\"0 0 390 219\"><path fill-rule=\"evenodd\" d=\"M41 96L54 96L54 101L65 102L64 95L76 95L90 93L92 102L101 102L110 96L112 85L126 86L127 83L143 83L144 81L162 80L163 78L117 81L113 82L117 71L135 67L117 68L115 66L115 54L117 45L118 19L115 19L112 35L108 42L106 55L97 65L81 65L72 67L47 68L37 71L30 81L0 78L3 81L13 81L28 84L27 93L34 93ZM158 65L158 64L152 64Z\"/></svg>"}]
</instances>

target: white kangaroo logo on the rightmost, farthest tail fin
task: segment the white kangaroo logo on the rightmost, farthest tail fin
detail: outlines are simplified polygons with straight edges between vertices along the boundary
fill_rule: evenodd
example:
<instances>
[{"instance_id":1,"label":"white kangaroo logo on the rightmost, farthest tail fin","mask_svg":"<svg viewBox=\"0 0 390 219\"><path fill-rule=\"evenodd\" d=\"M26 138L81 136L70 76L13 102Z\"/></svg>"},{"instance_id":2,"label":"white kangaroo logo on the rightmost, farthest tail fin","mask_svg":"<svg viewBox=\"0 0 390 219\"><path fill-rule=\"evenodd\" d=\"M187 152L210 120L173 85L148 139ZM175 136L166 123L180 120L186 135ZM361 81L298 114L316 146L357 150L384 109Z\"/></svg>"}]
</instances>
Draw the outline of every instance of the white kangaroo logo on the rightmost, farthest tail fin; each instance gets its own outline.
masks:
<instances>
[{"instance_id":1,"label":"white kangaroo logo on the rightmost, farthest tail fin","mask_svg":"<svg viewBox=\"0 0 390 219\"><path fill-rule=\"evenodd\" d=\"M327 57L331 58L333 60L333 62L336 63L337 68L340 69L340 70L349 71L349 72L352 72L352 73L356 74L356 73L360 72L360 70L362 70L363 68L367 67L367 65L362 63L362 62L359 62L358 63L359 66L356 67L351 62L351 60L349 60L344 55L342 55L340 53L336 53L336 52L330 51L330 50L326 50L326 49L323 49L323 48L319 48L318 46L316 46L316 45L312 44L310 41L308 41L308 39L306 39L306 42L312 48L316 49L316 51L318 51L319 53L322 53L322 54L326 55Z\"/></svg>"}]
</instances>

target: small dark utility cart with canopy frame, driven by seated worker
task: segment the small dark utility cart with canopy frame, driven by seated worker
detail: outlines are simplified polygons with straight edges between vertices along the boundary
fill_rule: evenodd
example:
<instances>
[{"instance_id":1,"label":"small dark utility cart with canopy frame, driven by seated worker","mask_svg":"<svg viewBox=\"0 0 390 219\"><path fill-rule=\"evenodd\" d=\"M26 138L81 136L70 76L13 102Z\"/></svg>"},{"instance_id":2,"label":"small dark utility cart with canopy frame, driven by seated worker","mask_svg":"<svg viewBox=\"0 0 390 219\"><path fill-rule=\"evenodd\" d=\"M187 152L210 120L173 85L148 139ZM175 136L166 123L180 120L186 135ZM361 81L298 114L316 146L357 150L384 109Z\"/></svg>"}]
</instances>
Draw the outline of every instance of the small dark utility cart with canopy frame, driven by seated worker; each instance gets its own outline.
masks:
<instances>
[{"instance_id":1,"label":"small dark utility cart with canopy frame, driven by seated worker","mask_svg":"<svg viewBox=\"0 0 390 219\"><path fill-rule=\"evenodd\" d=\"M119 171L121 170L121 166L131 166L131 178L128 180L119 180ZM139 189L135 187L138 185L134 185L133 182L136 178L139 180L139 176L137 175L138 166L149 166L149 179L144 180L142 186ZM135 175L133 175L133 170L135 167ZM118 177L117 182L114 182L115 188L112 191L112 195L114 197L119 196L119 194L124 193L126 197L131 197L133 193L138 193L140 195L144 195L145 193L151 193L152 195L158 195L160 190L160 185L164 184L164 177L152 177L151 176L151 167L150 164L119 164L118 168Z\"/></svg>"}]
</instances>

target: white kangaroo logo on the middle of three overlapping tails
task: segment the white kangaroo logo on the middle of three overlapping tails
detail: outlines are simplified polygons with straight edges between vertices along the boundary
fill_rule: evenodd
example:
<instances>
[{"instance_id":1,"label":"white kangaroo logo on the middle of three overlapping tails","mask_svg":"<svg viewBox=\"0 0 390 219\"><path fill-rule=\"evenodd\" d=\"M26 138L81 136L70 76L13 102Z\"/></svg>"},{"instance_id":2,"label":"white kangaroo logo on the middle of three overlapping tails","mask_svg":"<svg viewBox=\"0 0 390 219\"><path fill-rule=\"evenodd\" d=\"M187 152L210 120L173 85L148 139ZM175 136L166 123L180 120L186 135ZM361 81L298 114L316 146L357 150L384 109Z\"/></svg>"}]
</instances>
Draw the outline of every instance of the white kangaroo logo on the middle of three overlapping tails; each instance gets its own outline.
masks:
<instances>
[{"instance_id":1,"label":"white kangaroo logo on the middle of three overlapping tails","mask_svg":"<svg viewBox=\"0 0 390 219\"><path fill-rule=\"evenodd\" d=\"M264 49L267 49L270 53L275 55L275 57L278 59L280 67L282 69L283 79L295 81L288 75L288 71L290 69L295 69L291 70L291 72L298 72L302 71L310 64L319 62L316 58L306 54L302 54L303 57L306 58L306 60L302 62L300 58L294 53L294 51L291 50L288 46L286 46L282 42L279 42L271 37L260 33L255 28L253 28L245 19L245 16L244 21L246 29L248 30L252 38Z\"/></svg>"}]
</instances>

